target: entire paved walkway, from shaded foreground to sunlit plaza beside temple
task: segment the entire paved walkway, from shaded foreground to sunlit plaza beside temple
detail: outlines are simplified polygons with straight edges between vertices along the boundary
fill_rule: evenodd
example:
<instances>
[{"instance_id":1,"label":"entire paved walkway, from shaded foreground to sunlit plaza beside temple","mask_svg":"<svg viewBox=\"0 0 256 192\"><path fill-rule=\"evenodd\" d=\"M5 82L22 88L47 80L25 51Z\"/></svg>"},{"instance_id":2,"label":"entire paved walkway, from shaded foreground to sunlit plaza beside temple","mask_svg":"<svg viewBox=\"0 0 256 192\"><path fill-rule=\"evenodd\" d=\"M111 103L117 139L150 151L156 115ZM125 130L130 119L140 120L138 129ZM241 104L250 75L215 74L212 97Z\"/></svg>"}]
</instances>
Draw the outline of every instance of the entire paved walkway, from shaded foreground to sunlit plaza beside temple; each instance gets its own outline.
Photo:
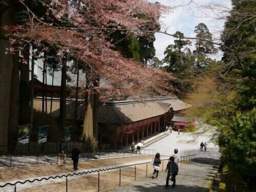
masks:
<instances>
[{"instance_id":1,"label":"entire paved walkway, from shaded foreground to sunlit plaza beside temple","mask_svg":"<svg viewBox=\"0 0 256 192\"><path fill-rule=\"evenodd\" d=\"M207 152L199 151L201 142L207 142ZM156 153L172 155L174 149L179 150L180 156L197 155L197 160L189 164L179 166L176 188L165 189L166 173L161 172L159 179L152 180L145 178L131 183L109 189L108 191L209 191L212 180L214 179L220 165L219 147L211 142L211 134L203 133L180 133L169 134L167 137L146 147L156 150ZM172 183L172 182L169 182Z\"/></svg>"}]
</instances>

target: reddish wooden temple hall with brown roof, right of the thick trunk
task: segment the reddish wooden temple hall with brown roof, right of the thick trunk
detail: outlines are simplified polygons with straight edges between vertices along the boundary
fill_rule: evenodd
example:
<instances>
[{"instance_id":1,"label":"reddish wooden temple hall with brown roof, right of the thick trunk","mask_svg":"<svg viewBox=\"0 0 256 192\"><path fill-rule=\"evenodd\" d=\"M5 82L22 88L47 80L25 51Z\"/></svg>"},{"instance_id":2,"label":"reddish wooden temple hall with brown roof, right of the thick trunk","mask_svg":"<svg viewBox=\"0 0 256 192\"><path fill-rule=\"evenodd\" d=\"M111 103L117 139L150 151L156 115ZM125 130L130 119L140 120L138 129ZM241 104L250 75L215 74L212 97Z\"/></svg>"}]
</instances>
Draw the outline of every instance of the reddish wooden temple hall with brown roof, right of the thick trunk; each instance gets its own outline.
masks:
<instances>
[{"instance_id":1,"label":"reddish wooden temple hall with brown roof, right of the thick trunk","mask_svg":"<svg viewBox=\"0 0 256 192\"><path fill-rule=\"evenodd\" d=\"M144 140L163 132L175 113L190 106L177 97L101 102L99 140L115 147Z\"/></svg>"}]
</instances>

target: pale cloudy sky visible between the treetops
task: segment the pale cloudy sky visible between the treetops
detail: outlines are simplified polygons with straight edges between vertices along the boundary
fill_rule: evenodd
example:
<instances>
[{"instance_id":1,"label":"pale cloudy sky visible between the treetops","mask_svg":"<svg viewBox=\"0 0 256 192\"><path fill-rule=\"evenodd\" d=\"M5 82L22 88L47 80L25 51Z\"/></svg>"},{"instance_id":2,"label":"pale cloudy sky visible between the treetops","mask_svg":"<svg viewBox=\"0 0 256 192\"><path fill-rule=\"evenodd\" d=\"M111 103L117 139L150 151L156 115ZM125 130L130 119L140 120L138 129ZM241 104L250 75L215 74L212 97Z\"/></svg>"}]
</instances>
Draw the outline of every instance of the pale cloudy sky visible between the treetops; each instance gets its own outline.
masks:
<instances>
[{"instance_id":1,"label":"pale cloudy sky visible between the treetops","mask_svg":"<svg viewBox=\"0 0 256 192\"><path fill-rule=\"evenodd\" d=\"M230 0L148 0L149 2L159 2L160 4L170 7L176 7L167 14L163 14L160 18L161 31L165 31L170 34L174 34L176 31L184 33L184 36L195 37L194 30L199 23L204 23L209 31L212 33L214 39L220 37L220 32L223 29L225 19L216 19L216 17L222 17L226 14L226 10L231 8ZM187 5L189 2L191 3ZM212 12L202 8L203 5L220 5L222 7L218 12ZM183 5L183 6L182 6ZM186 6L184 6L186 5ZM225 13L223 13L225 10ZM210 17L209 17L210 16ZM212 18L215 17L215 18ZM159 59L164 58L165 48L174 43L173 37L165 34L156 33L156 41L154 46L156 48L156 56ZM220 60L222 52L210 56Z\"/></svg>"}]
</instances>

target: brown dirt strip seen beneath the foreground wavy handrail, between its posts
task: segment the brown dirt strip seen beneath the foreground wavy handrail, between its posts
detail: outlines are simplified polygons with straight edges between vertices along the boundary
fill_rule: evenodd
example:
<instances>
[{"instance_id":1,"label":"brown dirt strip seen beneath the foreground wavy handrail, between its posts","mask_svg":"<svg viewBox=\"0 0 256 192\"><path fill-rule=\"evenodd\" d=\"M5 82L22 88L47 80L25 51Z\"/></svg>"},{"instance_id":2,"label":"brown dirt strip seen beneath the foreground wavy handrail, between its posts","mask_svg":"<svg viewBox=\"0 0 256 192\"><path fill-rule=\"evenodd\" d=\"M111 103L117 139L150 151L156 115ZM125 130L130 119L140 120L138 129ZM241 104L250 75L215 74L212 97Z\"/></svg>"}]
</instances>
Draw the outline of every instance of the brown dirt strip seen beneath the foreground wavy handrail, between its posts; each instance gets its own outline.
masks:
<instances>
[{"instance_id":1,"label":"brown dirt strip seen beneath the foreground wavy handrail, between its posts","mask_svg":"<svg viewBox=\"0 0 256 192\"><path fill-rule=\"evenodd\" d=\"M151 157L150 157L151 159ZM149 159L149 160L150 160ZM164 165L166 165L167 161L164 161ZM162 170L162 166L161 166ZM153 166L148 164L136 166L136 180L141 178L150 177L153 173ZM147 175L146 175L147 172ZM99 175L99 185L100 191L105 191L110 188L119 186L119 174L120 170L114 170L111 172L100 173ZM163 174L160 172L160 174ZM165 174L165 173L164 173ZM70 180L69 180L70 179ZM121 169L121 185L134 182L135 181L135 167L129 167ZM66 178L63 179L62 182L52 183L48 185L41 185L32 188L26 188L18 191L38 191L38 192L45 192L45 191L66 191ZM82 178L71 179L68 178L68 191L98 191L98 174L91 175Z\"/></svg>"}]
</instances>

